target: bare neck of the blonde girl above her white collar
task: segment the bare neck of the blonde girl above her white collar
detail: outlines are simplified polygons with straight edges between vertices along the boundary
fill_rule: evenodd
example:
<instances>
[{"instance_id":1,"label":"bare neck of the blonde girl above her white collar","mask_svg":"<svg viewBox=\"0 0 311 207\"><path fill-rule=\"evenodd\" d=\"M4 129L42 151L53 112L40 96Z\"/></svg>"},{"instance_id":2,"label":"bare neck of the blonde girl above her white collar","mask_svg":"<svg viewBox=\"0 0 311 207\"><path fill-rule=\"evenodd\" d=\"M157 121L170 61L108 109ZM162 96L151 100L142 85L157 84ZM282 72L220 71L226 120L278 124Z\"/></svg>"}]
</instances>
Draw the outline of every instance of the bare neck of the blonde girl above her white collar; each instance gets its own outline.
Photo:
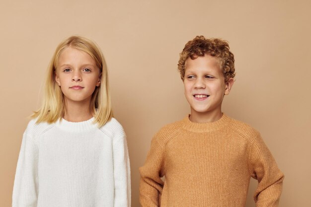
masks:
<instances>
[{"instance_id":1,"label":"bare neck of the blonde girl above her white collar","mask_svg":"<svg viewBox=\"0 0 311 207\"><path fill-rule=\"evenodd\" d=\"M65 114L63 118L69 122L83 122L93 117L90 111L89 102L76 103L66 101L65 106Z\"/></svg>"}]
</instances>

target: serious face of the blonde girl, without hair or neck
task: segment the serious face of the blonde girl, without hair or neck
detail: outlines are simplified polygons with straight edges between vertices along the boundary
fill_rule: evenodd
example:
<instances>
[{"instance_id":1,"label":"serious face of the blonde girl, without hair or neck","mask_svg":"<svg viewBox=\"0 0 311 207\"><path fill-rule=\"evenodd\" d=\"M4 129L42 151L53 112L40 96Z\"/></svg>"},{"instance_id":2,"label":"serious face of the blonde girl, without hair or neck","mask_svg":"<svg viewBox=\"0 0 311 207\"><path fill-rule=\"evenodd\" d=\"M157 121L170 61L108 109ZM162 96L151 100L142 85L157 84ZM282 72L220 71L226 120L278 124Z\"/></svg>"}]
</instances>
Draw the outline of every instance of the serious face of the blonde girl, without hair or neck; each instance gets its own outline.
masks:
<instances>
[{"instance_id":1,"label":"serious face of the blonde girl, without hair or neck","mask_svg":"<svg viewBox=\"0 0 311 207\"><path fill-rule=\"evenodd\" d=\"M75 48L63 50L55 73L67 104L90 103L95 87L100 85L100 69L94 59Z\"/></svg>"}]
</instances>

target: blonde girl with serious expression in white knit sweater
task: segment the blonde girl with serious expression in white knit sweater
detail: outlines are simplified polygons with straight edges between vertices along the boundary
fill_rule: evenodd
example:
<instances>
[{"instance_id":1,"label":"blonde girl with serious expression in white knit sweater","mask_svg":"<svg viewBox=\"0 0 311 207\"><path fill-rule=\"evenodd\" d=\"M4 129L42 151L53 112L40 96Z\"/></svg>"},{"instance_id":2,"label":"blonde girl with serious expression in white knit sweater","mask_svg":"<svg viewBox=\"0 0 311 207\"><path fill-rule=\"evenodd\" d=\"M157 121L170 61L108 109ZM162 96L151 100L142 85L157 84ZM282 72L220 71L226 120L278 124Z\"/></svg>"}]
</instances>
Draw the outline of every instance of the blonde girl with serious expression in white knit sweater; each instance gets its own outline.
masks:
<instances>
[{"instance_id":1,"label":"blonde girl with serious expression in white knit sweater","mask_svg":"<svg viewBox=\"0 0 311 207\"><path fill-rule=\"evenodd\" d=\"M13 207L130 207L126 136L112 118L106 63L93 42L72 36L57 47L32 118Z\"/></svg>"}]
</instances>

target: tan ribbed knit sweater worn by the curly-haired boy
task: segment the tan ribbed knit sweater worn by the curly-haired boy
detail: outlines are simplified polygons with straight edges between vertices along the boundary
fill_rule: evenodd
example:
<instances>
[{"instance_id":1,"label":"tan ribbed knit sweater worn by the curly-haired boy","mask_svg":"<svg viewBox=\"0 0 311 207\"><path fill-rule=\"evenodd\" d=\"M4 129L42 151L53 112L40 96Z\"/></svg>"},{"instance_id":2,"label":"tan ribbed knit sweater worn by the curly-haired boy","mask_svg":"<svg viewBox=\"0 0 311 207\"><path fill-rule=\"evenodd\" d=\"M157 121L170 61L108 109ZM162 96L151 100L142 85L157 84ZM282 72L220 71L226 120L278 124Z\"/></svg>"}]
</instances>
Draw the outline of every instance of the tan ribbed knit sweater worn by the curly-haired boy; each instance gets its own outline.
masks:
<instances>
[{"instance_id":1,"label":"tan ribbed knit sweater worn by the curly-haired boy","mask_svg":"<svg viewBox=\"0 0 311 207\"><path fill-rule=\"evenodd\" d=\"M277 207L284 178L260 134L225 114L163 127L140 174L142 207L244 207L251 177L256 207Z\"/></svg>"}]
</instances>

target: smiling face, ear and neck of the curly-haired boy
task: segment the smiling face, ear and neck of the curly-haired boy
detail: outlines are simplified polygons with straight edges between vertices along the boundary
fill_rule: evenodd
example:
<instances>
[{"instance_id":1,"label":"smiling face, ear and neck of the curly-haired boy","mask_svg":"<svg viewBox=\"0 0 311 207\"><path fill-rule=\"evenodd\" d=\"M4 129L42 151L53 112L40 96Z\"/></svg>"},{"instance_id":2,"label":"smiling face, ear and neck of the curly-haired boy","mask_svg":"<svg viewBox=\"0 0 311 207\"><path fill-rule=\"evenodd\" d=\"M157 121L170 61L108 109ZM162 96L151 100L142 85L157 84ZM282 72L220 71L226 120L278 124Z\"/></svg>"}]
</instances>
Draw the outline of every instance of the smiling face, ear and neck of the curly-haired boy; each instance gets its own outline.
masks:
<instances>
[{"instance_id":1,"label":"smiling face, ear and neck of the curly-haired boy","mask_svg":"<svg viewBox=\"0 0 311 207\"><path fill-rule=\"evenodd\" d=\"M229 94L233 78L225 82L220 63L215 57L206 54L194 60L188 58L183 82L192 122L214 122L222 117L223 98Z\"/></svg>"}]
</instances>

